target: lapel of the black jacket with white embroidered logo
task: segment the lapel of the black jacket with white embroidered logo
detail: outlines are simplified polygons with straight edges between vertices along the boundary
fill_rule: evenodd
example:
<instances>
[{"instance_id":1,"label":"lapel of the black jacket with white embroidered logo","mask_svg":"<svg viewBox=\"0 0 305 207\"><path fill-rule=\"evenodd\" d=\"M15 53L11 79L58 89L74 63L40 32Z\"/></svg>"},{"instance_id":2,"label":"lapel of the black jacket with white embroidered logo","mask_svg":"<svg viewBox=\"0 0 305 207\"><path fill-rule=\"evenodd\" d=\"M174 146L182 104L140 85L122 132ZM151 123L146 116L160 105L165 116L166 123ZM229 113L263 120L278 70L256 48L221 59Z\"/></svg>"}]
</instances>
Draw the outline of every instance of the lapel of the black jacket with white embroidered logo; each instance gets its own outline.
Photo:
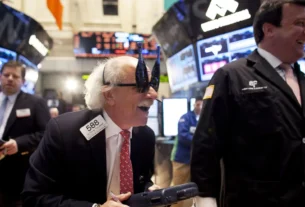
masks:
<instances>
[{"instance_id":1,"label":"lapel of the black jacket with white embroidered logo","mask_svg":"<svg viewBox=\"0 0 305 207\"><path fill-rule=\"evenodd\" d=\"M257 50L248 56L248 63L253 65L254 69L263 77L265 77L270 83L279 88L286 96L288 96L292 103L300 108L300 104L295 97L292 89L283 80L283 78L276 72L276 70L263 58Z\"/></svg>"}]
</instances>

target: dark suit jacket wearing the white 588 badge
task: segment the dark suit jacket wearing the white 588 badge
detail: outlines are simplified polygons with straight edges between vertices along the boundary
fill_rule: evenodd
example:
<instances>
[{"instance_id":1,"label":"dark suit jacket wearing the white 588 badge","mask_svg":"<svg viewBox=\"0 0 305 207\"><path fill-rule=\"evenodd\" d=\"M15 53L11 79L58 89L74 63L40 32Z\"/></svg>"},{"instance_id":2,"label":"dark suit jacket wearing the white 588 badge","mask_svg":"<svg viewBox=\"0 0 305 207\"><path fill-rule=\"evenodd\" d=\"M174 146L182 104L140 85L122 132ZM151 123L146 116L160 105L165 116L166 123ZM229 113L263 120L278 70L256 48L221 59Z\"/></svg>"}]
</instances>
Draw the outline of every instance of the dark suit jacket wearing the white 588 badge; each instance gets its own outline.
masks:
<instances>
[{"instance_id":1,"label":"dark suit jacket wearing the white 588 badge","mask_svg":"<svg viewBox=\"0 0 305 207\"><path fill-rule=\"evenodd\" d=\"M105 130L89 141L80 128L102 115L82 110L51 119L37 151L30 159L24 207L91 207L103 204L107 194ZM155 135L147 127L134 127L131 139L134 193L147 190L154 171Z\"/></svg>"}]
</instances>

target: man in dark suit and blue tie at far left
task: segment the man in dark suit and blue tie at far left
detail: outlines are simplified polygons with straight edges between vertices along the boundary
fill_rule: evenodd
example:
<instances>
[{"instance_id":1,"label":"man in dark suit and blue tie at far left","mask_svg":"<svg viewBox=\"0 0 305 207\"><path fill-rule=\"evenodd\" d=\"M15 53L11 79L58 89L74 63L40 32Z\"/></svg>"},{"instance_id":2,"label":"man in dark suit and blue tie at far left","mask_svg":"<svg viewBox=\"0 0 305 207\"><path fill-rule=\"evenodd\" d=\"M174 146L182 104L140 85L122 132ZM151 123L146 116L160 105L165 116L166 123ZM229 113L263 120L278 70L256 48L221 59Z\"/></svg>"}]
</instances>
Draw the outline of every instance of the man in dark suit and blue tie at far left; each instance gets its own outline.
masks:
<instances>
[{"instance_id":1,"label":"man in dark suit and blue tie at far left","mask_svg":"<svg viewBox=\"0 0 305 207\"><path fill-rule=\"evenodd\" d=\"M44 99L21 91L25 68L9 61L0 70L0 206L21 206L29 157L38 146L49 110Z\"/></svg>"}]
</instances>

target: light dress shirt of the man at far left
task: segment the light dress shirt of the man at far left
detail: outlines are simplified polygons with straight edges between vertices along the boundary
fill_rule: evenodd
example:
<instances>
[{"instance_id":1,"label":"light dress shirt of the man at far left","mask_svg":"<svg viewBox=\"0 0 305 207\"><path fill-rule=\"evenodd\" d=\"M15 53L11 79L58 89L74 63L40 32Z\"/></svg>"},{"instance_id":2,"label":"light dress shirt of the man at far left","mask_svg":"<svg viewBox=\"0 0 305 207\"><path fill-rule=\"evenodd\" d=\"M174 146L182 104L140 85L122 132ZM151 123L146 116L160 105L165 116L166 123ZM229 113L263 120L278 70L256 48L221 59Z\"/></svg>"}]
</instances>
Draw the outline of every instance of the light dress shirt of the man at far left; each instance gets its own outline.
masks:
<instances>
[{"instance_id":1,"label":"light dress shirt of the man at far left","mask_svg":"<svg viewBox=\"0 0 305 207\"><path fill-rule=\"evenodd\" d=\"M2 136L3 136L3 133L4 133L4 129L6 127L8 117L10 116L10 114L12 112L12 109L14 107L14 104L16 102L16 99L17 99L17 96L18 96L19 93L20 93L20 91L13 94L13 95L7 96L8 101L7 101L6 109L5 109L5 112L4 112L4 117L3 117L3 120L2 120L2 124L0 126L0 139L3 139ZM1 92L0 93L0 104L3 102L5 97L6 97L6 95L4 95L4 93Z\"/></svg>"}]
</instances>

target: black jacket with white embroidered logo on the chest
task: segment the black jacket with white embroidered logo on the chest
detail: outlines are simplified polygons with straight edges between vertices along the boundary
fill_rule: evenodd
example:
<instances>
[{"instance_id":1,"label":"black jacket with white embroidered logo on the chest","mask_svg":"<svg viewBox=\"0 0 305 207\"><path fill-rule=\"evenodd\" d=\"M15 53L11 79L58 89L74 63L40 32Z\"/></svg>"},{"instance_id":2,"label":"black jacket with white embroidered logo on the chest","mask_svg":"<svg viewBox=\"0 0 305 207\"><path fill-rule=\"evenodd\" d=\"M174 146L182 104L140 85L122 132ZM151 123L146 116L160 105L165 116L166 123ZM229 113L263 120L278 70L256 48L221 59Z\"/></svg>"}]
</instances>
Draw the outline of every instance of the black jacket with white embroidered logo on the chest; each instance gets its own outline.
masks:
<instances>
[{"instance_id":1,"label":"black jacket with white embroidered logo on the chest","mask_svg":"<svg viewBox=\"0 0 305 207\"><path fill-rule=\"evenodd\" d=\"M193 138L200 196L219 197L223 158L225 206L305 206L305 78L294 69L302 107L257 51L215 73Z\"/></svg>"}]
</instances>

